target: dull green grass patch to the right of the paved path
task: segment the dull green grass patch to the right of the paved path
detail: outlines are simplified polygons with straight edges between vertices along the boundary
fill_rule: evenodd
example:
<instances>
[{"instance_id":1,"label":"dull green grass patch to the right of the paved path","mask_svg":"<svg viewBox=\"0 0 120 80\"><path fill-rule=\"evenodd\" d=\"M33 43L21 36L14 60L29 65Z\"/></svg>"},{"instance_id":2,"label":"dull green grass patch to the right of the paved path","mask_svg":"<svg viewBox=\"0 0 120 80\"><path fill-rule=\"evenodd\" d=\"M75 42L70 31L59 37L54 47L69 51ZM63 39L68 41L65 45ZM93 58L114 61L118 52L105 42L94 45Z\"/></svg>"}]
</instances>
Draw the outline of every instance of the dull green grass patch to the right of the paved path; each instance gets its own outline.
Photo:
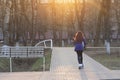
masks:
<instances>
[{"instance_id":1,"label":"dull green grass patch to the right of the paved path","mask_svg":"<svg viewBox=\"0 0 120 80\"><path fill-rule=\"evenodd\" d=\"M108 55L105 52L89 51L86 54L111 70L120 70L120 56L118 52L112 52Z\"/></svg>"}]
</instances>

